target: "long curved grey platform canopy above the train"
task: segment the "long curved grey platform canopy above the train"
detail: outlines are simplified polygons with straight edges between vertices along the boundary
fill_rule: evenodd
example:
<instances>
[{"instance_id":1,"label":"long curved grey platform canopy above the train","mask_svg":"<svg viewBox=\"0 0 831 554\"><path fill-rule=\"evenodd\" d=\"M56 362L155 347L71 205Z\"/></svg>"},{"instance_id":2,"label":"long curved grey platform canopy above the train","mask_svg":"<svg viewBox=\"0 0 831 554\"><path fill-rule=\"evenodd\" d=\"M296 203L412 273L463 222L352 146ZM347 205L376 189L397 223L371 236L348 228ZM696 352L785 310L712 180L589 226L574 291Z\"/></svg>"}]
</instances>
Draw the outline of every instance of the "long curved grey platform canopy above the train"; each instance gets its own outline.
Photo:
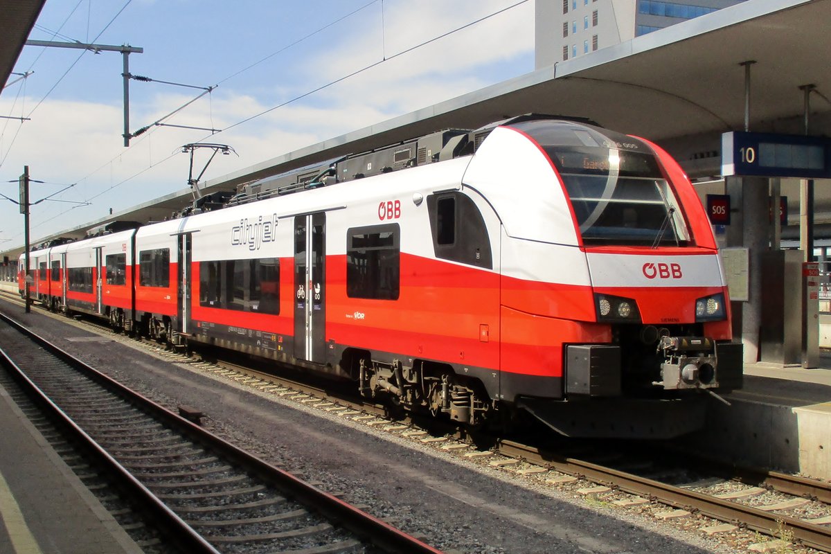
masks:
<instances>
[{"instance_id":1,"label":"long curved grey platform canopy above the train","mask_svg":"<svg viewBox=\"0 0 831 554\"><path fill-rule=\"evenodd\" d=\"M0 7L15 4L0 0ZM32 2L37 3L37 2ZM712 142L745 125L750 66L750 129L803 132L804 91L812 134L831 134L831 0L748 0L585 56L211 179L204 193L280 174L344 154L372 150L447 128L475 129L530 112L588 117L658 144ZM2 40L5 40L2 39ZM674 151L677 155L677 151ZM681 164L687 159L681 157ZM83 236L113 219L146 222L192 199L183 189L60 236ZM19 249L18 249L19 250ZM14 253L14 251L12 251Z\"/></svg>"}]
</instances>

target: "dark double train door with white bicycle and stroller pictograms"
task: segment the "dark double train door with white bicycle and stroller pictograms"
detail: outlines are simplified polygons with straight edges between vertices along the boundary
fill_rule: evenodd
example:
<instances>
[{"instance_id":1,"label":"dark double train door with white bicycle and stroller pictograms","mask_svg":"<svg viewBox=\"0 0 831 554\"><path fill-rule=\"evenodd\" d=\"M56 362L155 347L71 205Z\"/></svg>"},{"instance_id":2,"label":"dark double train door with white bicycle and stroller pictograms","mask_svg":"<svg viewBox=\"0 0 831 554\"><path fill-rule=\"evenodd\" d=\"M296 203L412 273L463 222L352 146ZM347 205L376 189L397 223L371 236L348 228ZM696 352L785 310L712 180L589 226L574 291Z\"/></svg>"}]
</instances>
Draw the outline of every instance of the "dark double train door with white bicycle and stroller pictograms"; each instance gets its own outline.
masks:
<instances>
[{"instance_id":1,"label":"dark double train door with white bicycle and stroller pictograms","mask_svg":"<svg viewBox=\"0 0 831 554\"><path fill-rule=\"evenodd\" d=\"M326 213L294 218L294 357L326 356Z\"/></svg>"}]
</instances>

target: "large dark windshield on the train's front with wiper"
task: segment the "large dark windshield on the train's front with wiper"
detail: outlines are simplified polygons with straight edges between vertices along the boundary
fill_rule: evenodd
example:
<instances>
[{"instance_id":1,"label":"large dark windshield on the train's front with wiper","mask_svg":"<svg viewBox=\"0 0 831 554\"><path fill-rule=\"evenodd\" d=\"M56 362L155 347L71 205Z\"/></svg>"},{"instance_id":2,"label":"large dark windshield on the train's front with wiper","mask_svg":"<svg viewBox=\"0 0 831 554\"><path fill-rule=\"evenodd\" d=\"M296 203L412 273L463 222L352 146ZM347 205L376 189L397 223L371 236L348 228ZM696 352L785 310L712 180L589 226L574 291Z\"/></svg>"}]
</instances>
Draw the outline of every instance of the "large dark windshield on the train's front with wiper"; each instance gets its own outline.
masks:
<instances>
[{"instance_id":1,"label":"large dark windshield on the train's front with wiper","mask_svg":"<svg viewBox=\"0 0 831 554\"><path fill-rule=\"evenodd\" d=\"M595 142L588 134L584 139ZM583 243L656 247L689 241L655 156L607 145L545 148L563 179Z\"/></svg>"}]
</instances>

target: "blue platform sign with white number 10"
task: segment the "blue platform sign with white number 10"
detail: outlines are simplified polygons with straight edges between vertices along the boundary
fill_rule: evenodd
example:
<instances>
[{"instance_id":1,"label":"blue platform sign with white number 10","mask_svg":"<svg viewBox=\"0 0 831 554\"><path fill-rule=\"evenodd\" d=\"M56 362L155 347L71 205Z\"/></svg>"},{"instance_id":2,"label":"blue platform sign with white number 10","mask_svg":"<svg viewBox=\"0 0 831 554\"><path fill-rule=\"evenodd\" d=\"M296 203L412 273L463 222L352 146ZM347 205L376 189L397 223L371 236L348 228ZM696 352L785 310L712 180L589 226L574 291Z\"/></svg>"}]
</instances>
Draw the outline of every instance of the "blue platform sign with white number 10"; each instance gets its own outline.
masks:
<instances>
[{"instance_id":1,"label":"blue platform sign with white number 10","mask_svg":"<svg viewBox=\"0 0 831 554\"><path fill-rule=\"evenodd\" d=\"M721 135L721 174L831 178L831 139L730 131Z\"/></svg>"}]
</instances>

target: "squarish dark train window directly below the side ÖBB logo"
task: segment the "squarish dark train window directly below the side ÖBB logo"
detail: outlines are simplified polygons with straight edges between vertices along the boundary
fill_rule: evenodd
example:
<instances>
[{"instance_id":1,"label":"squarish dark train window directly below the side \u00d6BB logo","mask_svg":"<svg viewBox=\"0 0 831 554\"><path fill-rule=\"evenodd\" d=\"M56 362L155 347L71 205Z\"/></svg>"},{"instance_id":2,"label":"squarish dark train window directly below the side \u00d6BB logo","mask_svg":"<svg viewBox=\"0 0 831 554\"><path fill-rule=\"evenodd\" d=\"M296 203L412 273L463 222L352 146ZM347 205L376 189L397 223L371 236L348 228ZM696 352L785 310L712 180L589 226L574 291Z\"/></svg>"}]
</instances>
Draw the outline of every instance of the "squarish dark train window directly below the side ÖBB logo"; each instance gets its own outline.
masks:
<instances>
[{"instance_id":1,"label":"squarish dark train window directly below the side \u00d6BB logo","mask_svg":"<svg viewBox=\"0 0 831 554\"><path fill-rule=\"evenodd\" d=\"M398 223L347 231L347 297L398 300L400 241Z\"/></svg>"}]
</instances>

